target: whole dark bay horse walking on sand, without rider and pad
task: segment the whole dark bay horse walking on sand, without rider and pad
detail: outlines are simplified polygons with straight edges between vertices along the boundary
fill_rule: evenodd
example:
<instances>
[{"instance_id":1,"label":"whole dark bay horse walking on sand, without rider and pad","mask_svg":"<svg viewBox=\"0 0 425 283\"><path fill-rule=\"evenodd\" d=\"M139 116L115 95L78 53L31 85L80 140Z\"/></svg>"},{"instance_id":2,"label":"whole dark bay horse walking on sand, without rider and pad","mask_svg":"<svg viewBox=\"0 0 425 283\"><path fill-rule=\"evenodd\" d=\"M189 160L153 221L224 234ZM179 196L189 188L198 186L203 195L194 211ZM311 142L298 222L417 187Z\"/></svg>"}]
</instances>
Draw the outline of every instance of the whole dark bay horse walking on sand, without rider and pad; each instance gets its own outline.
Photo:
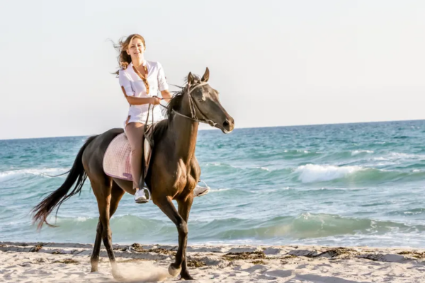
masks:
<instances>
[{"instance_id":1,"label":"whole dark bay horse walking on sand, without rider and pad","mask_svg":"<svg viewBox=\"0 0 425 283\"><path fill-rule=\"evenodd\" d=\"M154 149L146 178L152 191L152 201L176 224L179 232L179 250L175 262L169 266L169 273L174 277L180 274L182 279L193 279L186 265L186 245L193 189L200 177L200 167L195 157L199 122L208 122L224 133L234 129L234 120L220 104L218 92L208 84L209 74L208 68L201 79L189 73L186 86L171 99L168 119L159 122L154 130ZM123 129L110 129L89 137L79 150L64 183L33 209L33 220L38 223L39 229L44 223L50 225L47 216L53 209L59 209L62 202L79 193L89 177L100 214L91 255L91 271L98 270L103 241L115 279L124 278L115 262L109 219L125 192L134 195L135 190L132 190L131 181L106 175L102 163L108 144L122 132ZM171 200L177 201L178 209Z\"/></svg>"}]
</instances>

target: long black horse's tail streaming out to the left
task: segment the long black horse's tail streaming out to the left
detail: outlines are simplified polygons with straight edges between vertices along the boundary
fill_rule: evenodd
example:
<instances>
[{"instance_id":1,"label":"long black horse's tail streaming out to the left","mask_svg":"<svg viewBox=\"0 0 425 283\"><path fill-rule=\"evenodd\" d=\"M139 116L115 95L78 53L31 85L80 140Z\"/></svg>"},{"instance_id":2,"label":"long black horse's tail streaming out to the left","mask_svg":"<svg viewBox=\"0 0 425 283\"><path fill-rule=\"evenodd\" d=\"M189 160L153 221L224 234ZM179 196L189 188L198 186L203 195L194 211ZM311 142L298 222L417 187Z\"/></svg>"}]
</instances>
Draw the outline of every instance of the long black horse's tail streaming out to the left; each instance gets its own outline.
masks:
<instances>
[{"instance_id":1,"label":"long black horse's tail streaming out to the left","mask_svg":"<svg viewBox=\"0 0 425 283\"><path fill-rule=\"evenodd\" d=\"M55 209L56 207L58 210L60 205L65 200L68 200L69 197L72 197L73 195L77 195L77 193L81 193L81 189L84 185L84 181L87 178L87 174L86 174L86 171L84 171L83 162L82 162L84 149L86 149L86 147L96 137L97 136L89 137L89 139L87 139L84 145L81 147L81 149L79 150L77 154L77 158L75 158L74 165L72 165L72 168L69 171L67 179L59 187L59 189L55 190L55 192L50 193L50 195L45 197L45 199L42 200L42 202L40 202L39 204L37 204L36 207L33 208L33 211L32 211L33 222L38 223L37 224L38 229L41 229L43 224L47 224L48 226L55 226L47 222L47 216L49 216L52 210ZM77 181L77 184L75 184L74 190L69 192L72 185L74 185L75 181ZM56 210L56 214L57 214L57 210Z\"/></svg>"}]
</instances>

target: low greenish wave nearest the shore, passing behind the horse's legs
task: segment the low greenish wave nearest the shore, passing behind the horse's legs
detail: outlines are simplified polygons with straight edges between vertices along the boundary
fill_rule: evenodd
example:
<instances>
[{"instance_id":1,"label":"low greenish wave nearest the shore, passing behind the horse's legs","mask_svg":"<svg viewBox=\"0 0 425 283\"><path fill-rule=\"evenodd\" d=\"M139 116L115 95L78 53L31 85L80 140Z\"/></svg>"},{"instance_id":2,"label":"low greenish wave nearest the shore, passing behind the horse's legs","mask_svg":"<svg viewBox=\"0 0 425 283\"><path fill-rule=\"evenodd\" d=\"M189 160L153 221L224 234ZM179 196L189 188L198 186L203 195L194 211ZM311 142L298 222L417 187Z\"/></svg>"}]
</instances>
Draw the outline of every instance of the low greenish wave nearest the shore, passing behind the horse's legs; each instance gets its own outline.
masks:
<instances>
[{"instance_id":1,"label":"low greenish wave nearest the shore, passing behind the horse's legs","mask_svg":"<svg viewBox=\"0 0 425 283\"><path fill-rule=\"evenodd\" d=\"M98 219L75 217L58 219L56 233L67 233L68 237L78 231L79 235L92 235ZM136 241L140 238L155 238L157 241L176 240L176 228L171 221L144 219L140 216L124 215L111 219L115 241L125 238ZM351 218L334 214L302 213L295 216L277 216L272 219L215 219L212 221L189 221L189 237L193 241L235 240L251 238L267 240L273 238L305 239L338 235L385 234L388 232L424 232L423 225L408 225L396 221L368 218ZM57 235L59 236L59 235ZM60 238L63 238L61 236Z\"/></svg>"}]
</instances>

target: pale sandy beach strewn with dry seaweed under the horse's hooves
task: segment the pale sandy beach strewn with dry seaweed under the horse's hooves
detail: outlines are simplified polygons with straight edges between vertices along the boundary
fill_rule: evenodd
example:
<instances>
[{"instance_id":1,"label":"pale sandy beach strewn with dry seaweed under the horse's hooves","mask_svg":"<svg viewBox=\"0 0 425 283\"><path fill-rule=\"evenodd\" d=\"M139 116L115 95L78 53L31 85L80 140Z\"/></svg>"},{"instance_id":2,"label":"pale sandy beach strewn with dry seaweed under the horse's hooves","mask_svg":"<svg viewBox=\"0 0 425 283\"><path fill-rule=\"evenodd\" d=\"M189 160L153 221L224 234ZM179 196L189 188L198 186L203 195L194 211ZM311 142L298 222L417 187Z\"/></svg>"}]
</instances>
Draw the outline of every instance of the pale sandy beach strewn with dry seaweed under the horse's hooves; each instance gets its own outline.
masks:
<instances>
[{"instance_id":1,"label":"pale sandy beach strewn with dry seaweed under the horse's hooves","mask_svg":"<svg viewBox=\"0 0 425 283\"><path fill-rule=\"evenodd\" d=\"M0 242L1 282L115 282L91 244ZM171 282L176 246L114 245L126 282ZM196 282L425 282L425 250L323 246L189 246Z\"/></svg>"}]
</instances>

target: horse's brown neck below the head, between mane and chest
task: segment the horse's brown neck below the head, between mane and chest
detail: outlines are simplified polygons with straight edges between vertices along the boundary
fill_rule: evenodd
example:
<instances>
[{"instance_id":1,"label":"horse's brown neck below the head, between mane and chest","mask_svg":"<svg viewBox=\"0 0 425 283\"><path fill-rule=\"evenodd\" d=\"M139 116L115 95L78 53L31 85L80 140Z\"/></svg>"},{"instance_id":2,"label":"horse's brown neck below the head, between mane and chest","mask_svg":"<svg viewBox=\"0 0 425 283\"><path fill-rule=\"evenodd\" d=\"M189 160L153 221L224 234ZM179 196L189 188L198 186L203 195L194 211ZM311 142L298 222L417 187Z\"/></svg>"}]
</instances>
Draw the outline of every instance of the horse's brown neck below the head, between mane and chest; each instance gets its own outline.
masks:
<instances>
[{"instance_id":1,"label":"horse's brown neck below the head, between mane and chest","mask_svg":"<svg viewBox=\"0 0 425 283\"><path fill-rule=\"evenodd\" d=\"M171 121L171 132L175 139L175 152L183 162L188 165L196 148L196 138L198 137L198 122L189 120L186 117L175 115Z\"/></svg>"}]
</instances>

